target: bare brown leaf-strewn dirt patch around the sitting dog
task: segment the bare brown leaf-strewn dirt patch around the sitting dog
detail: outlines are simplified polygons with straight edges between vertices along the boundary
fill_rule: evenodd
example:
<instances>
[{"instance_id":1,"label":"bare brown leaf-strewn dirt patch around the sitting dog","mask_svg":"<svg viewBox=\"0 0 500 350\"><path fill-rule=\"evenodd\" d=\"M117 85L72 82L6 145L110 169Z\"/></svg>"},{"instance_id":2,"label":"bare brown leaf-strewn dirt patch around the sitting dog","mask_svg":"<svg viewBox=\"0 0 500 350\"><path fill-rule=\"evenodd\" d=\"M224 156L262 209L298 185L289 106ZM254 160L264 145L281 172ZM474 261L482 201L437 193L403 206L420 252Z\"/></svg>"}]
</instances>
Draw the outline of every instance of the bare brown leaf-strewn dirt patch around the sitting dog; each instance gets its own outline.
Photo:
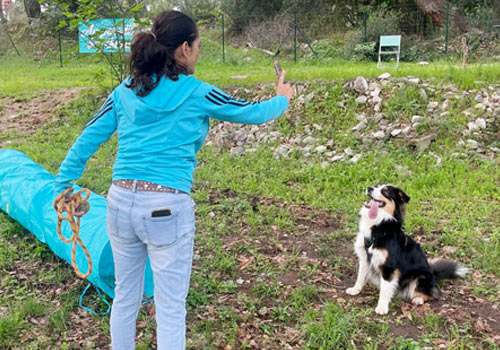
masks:
<instances>
[{"instance_id":1,"label":"bare brown leaf-strewn dirt patch around the sitting dog","mask_svg":"<svg viewBox=\"0 0 500 350\"><path fill-rule=\"evenodd\" d=\"M217 205L222 201L222 198L242 198L242 196L251 203L254 211L261 210L259 208L262 206L273 205L293 213L297 227L294 232L279 232L273 229L274 235L272 237L264 234L251 238L258 253L263 256L261 259L270 262L280 271L276 280L282 292L263 302L267 309L281 305L284 298L295 290L306 285L315 285L320 291L321 301L318 302L318 306L324 302L333 302L342 306L347 312L354 307L371 309L373 312L365 317L365 321L389 324L389 333L392 338L419 339L428 334L429 331L433 331L429 329L432 326L426 322L428 322L429 317L432 319L437 316L443 321L435 326L438 327L438 331L444 335L444 338L448 337L450 327L456 324L460 328L468 329L468 333L477 340L478 348L484 347L483 340L486 338L493 339L500 344L500 305L491 303L473 292L475 285L487 278L480 271L474 271L471 276L464 280L444 281L442 298L432 300L422 306L415 306L399 298L394 298L390 305L390 314L379 316L374 311L378 298L376 288L367 285L362 293L355 297L349 296L345 292L347 288L354 285L358 269L357 258L353 250L354 238L336 238L333 241L324 239L328 233L342 229L345 220L340 215L305 205L236 194L229 190L211 191L208 200L210 204ZM214 210L216 209L214 208ZM420 237L420 235L418 236ZM430 239L432 239L432 235ZM231 252L232 247L235 246L233 243L241 240L248 242L249 238L244 237L243 232L234 232L234 235L227 238L223 249L233 254ZM426 239L422 236L421 243L424 242ZM439 242L436 244L439 245ZM235 252L235 254L242 253ZM244 281L239 286L238 293L251 295L253 287L256 285L257 276L269 285L272 285L275 277L266 278L260 275L259 268L254 268L254 264L258 262L245 254L247 253L243 253L238 259L239 266L235 279ZM446 249L443 249L441 255L449 257ZM335 262L335 265L331 263L332 261ZM233 299L231 302L236 304L237 298ZM239 306L235 305L235 307ZM241 312L244 312L244 309ZM253 319L254 322L272 322L272 317L267 314L256 313L253 315ZM256 319L258 321L255 321ZM259 329L245 327L244 324L240 326L246 328L246 335L251 339L263 337ZM295 328L293 324L288 326L291 328L285 327L283 332ZM294 346L297 345L281 337L278 338L276 341L284 341L291 348L295 348ZM257 343L259 342L257 341ZM261 345L259 344L259 346ZM439 344L438 341L437 344L440 348L446 348L449 345L448 340L443 340L442 344Z\"/></svg>"}]
</instances>

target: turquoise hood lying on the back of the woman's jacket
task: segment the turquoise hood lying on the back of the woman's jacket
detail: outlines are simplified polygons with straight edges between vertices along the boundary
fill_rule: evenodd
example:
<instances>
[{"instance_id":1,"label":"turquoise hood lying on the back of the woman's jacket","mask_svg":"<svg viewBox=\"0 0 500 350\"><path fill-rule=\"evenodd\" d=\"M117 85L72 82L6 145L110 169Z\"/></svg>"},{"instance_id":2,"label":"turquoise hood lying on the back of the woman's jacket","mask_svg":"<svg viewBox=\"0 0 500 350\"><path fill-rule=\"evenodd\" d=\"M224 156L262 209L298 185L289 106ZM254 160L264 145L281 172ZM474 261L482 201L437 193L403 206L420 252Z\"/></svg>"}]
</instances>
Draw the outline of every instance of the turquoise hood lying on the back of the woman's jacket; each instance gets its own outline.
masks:
<instances>
[{"instance_id":1,"label":"turquoise hood lying on the back of the woman's jacket","mask_svg":"<svg viewBox=\"0 0 500 350\"><path fill-rule=\"evenodd\" d=\"M136 90L125 86L130 79L125 79L116 89L115 102L122 105L127 111L125 116L137 125L155 123L172 113L202 84L193 76L179 75L177 81L163 76L147 96L141 97L137 96Z\"/></svg>"}]
</instances>

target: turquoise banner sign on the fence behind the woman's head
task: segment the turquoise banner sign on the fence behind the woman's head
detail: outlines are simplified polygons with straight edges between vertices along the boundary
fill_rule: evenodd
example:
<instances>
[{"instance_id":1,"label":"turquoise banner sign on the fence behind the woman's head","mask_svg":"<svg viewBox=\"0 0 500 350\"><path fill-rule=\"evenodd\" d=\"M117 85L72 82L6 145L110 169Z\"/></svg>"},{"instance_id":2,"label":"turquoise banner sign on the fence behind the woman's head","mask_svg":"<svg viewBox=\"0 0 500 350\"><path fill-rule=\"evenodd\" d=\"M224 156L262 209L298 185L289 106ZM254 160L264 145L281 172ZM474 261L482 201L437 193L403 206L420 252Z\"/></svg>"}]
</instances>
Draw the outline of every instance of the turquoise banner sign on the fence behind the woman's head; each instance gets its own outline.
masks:
<instances>
[{"instance_id":1,"label":"turquoise banner sign on the fence behind the woman's head","mask_svg":"<svg viewBox=\"0 0 500 350\"><path fill-rule=\"evenodd\" d=\"M81 53L130 52L134 29L133 18L109 18L89 20L78 25ZM125 42L123 42L125 41Z\"/></svg>"}]
</instances>

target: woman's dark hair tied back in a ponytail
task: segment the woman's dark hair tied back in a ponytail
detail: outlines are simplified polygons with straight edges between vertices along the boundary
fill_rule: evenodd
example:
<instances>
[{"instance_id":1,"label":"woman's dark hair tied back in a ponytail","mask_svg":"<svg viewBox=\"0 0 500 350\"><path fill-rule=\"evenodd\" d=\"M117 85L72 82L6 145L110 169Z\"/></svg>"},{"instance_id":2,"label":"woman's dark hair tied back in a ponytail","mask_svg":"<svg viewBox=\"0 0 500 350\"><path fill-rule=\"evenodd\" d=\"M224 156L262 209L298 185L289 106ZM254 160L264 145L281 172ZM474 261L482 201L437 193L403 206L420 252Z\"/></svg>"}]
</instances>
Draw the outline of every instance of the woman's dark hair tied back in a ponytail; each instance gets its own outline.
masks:
<instances>
[{"instance_id":1,"label":"woman's dark hair tied back in a ponytail","mask_svg":"<svg viewBox=\"0 0 500 350\"><path fill-rule=\"evenodd\" d=\"M130 54L130 83L125 85L146 96L160 78L166 75L177 80L187 74L184 65L174 59L175 50L185 41L192 45L198 37L194 21L179 11L163 11L156 16L151 32L140 32L132 40Z\"/></svg>"}]
</instances>

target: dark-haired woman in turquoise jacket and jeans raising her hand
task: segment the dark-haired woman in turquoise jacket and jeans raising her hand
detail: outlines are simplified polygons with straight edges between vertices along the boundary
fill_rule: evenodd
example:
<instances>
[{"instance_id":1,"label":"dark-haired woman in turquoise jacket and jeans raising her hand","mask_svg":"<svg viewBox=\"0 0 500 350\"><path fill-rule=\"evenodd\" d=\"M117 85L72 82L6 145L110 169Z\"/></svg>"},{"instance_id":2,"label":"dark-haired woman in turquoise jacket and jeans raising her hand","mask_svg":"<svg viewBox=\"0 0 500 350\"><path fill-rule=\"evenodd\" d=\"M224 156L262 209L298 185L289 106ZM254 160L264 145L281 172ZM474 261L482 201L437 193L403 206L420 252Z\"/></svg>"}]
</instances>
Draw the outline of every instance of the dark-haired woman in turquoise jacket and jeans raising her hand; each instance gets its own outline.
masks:
<instances>
[{"instance_id":1,"label":"dark-haired woman in turquoise jacket and jeans raising her hand","mask_svg":"<svg viewBox=\"0 0 500 350\"><path fill-rule=\"evenodd\" d=\"M107 230L115 264L113 350L134 349L136 318L149 256L154 278L158 349L185 349L186 296L195 232L189 193L196 152L209 117L260 124L288 108L293 90L281 75L276 97L237 100L192 76L199 57L195 23L160 13L132 42L131 77L118 86L69 150L56 194L71 187L99 145L117 131L118 154L107 197Z\"/></svg>"}]
</instances>

